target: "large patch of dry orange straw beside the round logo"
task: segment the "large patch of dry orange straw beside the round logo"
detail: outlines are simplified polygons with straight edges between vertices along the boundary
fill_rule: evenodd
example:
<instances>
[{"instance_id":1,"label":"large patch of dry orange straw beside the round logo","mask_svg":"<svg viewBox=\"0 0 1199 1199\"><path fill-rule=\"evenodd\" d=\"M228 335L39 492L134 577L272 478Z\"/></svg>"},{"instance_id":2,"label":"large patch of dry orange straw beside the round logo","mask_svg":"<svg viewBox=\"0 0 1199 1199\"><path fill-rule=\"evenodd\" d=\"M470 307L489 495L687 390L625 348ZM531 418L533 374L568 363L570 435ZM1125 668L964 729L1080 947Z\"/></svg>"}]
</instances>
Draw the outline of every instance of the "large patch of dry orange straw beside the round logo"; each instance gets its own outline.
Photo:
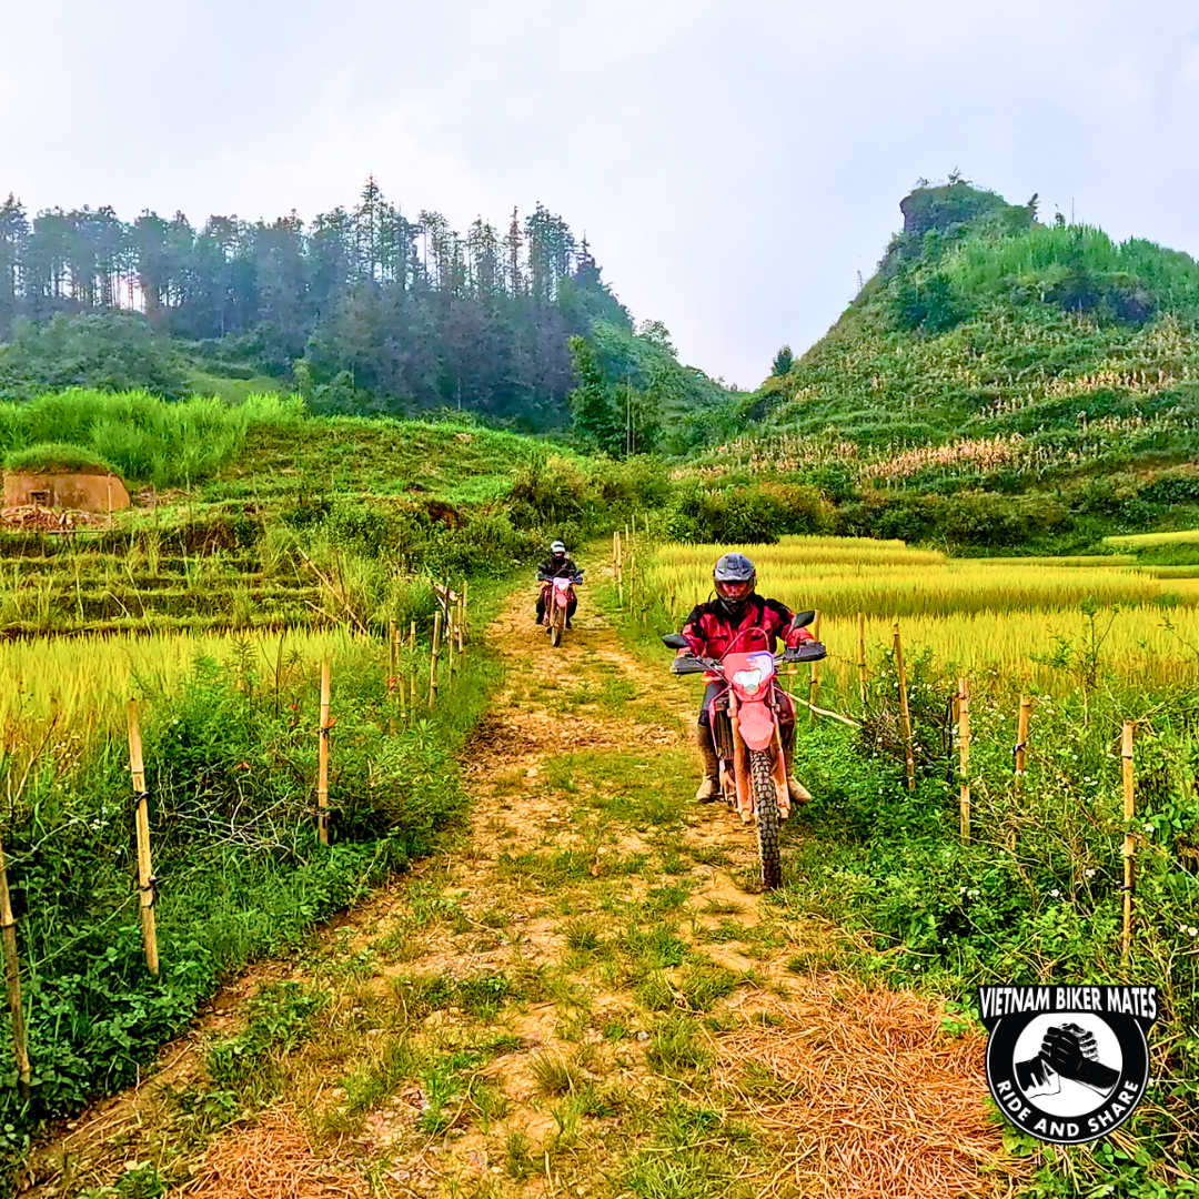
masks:
<instances>
[{"instance_id":1,"label":"large patch of dry orange straw beside the round logo","mask_svg":"<svg viewBox=\"0 0 1199 1199\"><path fill-rule=\"evenodd\" d=\"M986 1114L983 1040L941 1034L934 1001L830 980L773 1016L718 1038L722 1073L757 1120L794 1139L788 1181L805 1193L994 1197L1023 1171ZM763 1103L741 1085L751 1061L795 1093Z\"/></svg>"}]
</instances>

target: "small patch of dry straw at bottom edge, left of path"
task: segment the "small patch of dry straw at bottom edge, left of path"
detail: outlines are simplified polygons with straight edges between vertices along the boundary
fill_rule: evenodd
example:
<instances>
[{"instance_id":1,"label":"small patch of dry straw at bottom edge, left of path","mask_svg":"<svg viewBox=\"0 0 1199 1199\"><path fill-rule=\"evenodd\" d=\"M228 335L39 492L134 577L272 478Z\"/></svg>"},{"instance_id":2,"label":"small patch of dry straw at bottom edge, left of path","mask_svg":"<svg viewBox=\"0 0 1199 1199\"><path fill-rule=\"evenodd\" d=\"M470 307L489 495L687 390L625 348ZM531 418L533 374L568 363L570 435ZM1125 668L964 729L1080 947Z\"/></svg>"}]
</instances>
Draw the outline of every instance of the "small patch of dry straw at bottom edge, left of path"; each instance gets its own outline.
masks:
<instances>
[{"instance_id":1,"label":"small patch of dry straw at bottom edge, left of path","mask_svg":"<svg viewBox=\"0 0 1199 1199\"><path fill-rule=\"evenodd\" d=\"M296 1114L281 1107L217 1140L182 1199L367 1199L369 1188L312 1150Z\"/></svg>"}]
</instances>

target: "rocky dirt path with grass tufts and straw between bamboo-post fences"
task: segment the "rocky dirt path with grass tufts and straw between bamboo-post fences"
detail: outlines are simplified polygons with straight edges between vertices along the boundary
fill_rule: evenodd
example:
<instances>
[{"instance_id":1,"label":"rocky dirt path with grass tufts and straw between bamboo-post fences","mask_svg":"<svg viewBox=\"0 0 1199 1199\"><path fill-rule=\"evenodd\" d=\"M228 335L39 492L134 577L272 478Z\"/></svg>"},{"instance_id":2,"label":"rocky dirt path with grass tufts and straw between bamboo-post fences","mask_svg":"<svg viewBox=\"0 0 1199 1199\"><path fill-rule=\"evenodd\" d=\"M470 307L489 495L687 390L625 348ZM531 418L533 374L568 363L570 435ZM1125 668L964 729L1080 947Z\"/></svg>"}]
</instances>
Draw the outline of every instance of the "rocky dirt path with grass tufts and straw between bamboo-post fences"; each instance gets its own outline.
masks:
<instances>
[{"instance_id":1,"label":"rocky dirt path with grass tufts and straw between bamboo-post fences","mask_svg":"<svg viewBox=\"0 0 1199 1199\"><path fill-rule=\"evenodd\" d=\"M559 650L524 595L487 631L507 682L469 748L470 827L218 998L34 1193L1008 1188L981 1042L830 972L839 934L754 893L751 831L692 800L694 688L588 598Z\"/></svg>"}]
</instances>

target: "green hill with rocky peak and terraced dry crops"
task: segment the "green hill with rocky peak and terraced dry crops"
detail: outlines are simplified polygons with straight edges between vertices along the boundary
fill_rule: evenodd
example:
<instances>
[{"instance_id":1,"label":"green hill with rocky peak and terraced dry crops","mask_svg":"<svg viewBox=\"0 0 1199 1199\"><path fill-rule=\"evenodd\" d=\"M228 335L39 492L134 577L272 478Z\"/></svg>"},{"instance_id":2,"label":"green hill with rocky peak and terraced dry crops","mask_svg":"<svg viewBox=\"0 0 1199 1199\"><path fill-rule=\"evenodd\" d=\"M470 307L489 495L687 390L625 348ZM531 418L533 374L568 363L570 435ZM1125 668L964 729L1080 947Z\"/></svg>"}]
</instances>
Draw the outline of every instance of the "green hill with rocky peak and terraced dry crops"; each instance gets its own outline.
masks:
<instances>
[{"instance_id":1,"label":"green hill with rocky peak and terraced dry crops","mask_svg":"<svg viewBox=\"0 0 1199 1199\"><path fill-rule=\"evenodd\" d=\"M784 347L712 469L951 544L1199 518L1199 265L960 179L900 209L876 275L802 357Z\"/></svg>"}]
</instances>

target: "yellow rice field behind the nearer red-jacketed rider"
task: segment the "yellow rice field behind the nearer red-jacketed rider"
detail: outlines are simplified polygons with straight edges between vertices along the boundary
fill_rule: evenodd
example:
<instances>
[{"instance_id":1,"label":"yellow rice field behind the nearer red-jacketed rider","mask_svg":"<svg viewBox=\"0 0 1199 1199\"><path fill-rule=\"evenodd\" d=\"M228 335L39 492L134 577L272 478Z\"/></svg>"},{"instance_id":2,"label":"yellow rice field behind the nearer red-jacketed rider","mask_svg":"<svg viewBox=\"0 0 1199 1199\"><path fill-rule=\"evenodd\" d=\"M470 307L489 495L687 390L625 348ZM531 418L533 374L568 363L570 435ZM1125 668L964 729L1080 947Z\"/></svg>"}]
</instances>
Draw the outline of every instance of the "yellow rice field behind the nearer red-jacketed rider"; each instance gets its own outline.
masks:
<instances>
[{"instance_id":1,"label":"yellow rice field behind the nearer red-jacketed rider","mask_svg":"<svg viewBox=\"0 0 1199 1199\"><path fill-rule=\"evenodd\" d=\"M820 610L826 698L856 694L858 611L866 614L868 658L891 646L898 619L909 655L928 650L938 665L980 681L1061 694L1077 683L1068 658L1087 635L1081 605L1090 600L1099 605L1093 629L1103 635L1102 661L1128 685L1168 686L1199 670L1199 579L1158 579L1131 565L1089 560L952 560L897 542L788 537L775 546L663 546L646 583L668 608L674 594L677 623L711 596L712 564L731 549L753 559L760 594L793 610ZM1064 646L1067 661L1049 664Z\"/></svg>"}]
</instances>

